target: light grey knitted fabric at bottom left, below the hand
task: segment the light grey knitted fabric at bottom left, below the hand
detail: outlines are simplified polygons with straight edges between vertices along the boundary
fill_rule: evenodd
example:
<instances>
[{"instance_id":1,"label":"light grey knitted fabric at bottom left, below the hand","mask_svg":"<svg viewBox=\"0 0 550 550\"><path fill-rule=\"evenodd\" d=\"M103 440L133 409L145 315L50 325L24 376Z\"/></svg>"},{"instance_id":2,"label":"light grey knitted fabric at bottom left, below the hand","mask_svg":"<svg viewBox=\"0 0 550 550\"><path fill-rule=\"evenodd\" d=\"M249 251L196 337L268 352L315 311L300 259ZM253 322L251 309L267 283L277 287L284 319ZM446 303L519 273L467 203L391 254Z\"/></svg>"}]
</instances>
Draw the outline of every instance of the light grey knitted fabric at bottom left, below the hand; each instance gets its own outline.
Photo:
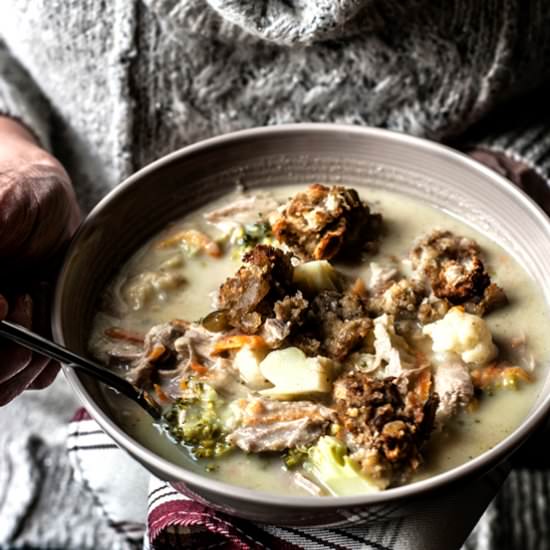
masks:
<instances>
[{"instance_id":1,"label":"light grey knitted fabric at bottom left, below the hand","mask_svg":"<svg viewBox=\"0 0 550 550\"><path fill-rule=\"evenodd\" d=\"M67 425L78 406L63 377L0 409L0 548L129 550L73 477Z\"/></svg>"}]
</instances>

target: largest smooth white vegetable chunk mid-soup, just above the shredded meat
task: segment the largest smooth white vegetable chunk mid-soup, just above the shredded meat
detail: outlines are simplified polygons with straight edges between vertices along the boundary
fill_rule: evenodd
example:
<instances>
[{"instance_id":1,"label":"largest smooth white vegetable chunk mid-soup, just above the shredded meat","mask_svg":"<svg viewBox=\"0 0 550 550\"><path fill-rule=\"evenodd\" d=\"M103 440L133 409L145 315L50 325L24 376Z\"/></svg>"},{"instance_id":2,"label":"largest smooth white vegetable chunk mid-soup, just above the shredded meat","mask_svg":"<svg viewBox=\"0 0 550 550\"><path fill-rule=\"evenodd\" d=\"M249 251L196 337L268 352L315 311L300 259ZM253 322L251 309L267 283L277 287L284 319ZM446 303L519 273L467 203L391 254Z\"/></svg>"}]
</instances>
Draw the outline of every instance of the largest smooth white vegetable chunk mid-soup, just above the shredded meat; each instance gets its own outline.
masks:
<instances>
[{"instance_id":1,"label":"largest smooth white vegetable chunk mid-soup, just above the shredded meat","mask_svg":"<svg viewBox=\"0 0 550 550\"><path fill-rule=\"evenodd\" d=\"M295 399L330 392L335 364L327 357L306 357L302 350L291 347L268 353L260 371L275 386L262 390L262 395Z\"/></svg>"}]
</instances>

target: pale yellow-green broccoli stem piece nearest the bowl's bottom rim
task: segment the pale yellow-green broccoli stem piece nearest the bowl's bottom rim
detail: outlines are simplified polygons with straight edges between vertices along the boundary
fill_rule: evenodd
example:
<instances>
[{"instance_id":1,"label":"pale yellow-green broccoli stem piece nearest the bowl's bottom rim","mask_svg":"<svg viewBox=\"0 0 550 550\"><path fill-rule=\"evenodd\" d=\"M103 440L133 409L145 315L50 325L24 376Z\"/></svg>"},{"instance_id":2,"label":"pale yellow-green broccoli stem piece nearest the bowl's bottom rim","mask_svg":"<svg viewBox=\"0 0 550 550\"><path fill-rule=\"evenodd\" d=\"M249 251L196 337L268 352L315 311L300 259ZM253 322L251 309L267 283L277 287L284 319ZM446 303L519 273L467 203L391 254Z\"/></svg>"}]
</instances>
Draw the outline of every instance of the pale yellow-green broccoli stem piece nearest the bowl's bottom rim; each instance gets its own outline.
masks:
<instances>
[{"instance_id":1,"label":"pale yellow-green broccoli stem piece nearest the bowl's bottom rim","mask_svg":"<svg viewBox=\"0 0 550 550\"><path fill-rule=\"evenodd\" d=\"M346 445L330 435L319 438L317 444L311 447L304 469L332 495L356 495L380 490L361 473L357 462L347 455Z\"/></svg>"}]
</instances>

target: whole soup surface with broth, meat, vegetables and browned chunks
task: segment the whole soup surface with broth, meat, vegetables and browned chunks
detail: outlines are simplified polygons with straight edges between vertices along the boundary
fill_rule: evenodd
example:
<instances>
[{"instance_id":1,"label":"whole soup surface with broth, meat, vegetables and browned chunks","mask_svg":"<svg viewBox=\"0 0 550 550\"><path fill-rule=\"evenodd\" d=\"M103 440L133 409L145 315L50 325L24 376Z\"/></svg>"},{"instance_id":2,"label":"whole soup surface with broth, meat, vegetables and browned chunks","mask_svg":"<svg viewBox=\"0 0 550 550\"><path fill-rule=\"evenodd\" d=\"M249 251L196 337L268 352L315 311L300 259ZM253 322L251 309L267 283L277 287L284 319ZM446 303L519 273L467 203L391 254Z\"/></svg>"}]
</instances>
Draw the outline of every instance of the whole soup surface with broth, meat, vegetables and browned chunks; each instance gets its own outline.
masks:
<instances>
[{"instance_id":1,"label":"whole soup surface with broth, meat, vegetables and browned chunks","mask_svg":"<svg viewBox=\"0 0 550 550\"><path fill-rule=\"evenodd\" d=\"M154 392L169 437L109 399L165 458L344 495L435 475L511 433L540 391L547 321L527 273L448 214L292 186L236 191L146 243L105 290L90 350Z\"/></svg>"}]
</instances>

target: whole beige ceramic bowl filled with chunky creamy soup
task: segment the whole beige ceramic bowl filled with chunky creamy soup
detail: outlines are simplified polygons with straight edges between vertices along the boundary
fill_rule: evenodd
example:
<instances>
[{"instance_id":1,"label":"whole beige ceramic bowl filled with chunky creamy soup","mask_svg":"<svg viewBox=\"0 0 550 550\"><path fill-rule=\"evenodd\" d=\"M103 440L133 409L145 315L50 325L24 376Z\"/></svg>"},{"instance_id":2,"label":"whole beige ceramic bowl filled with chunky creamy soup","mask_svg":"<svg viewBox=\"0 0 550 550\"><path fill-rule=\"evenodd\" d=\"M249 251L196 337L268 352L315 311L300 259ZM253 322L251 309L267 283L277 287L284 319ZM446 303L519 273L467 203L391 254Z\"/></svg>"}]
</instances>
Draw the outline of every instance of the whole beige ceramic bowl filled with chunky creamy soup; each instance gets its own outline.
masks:
<instances>
[{"instance_id":1,"label":"whole beige ceramic bowl filled with chunky creamy soup","mask_svg":"<svg viewBox=\"0 0 550 550\"><path fill-rule=\"evenodd\" d=\"M258 128L145 167L67 253L54 335L148 391L66 370L177 490L240 517L406 515L494 470L550 407L550 222L444 146Z\"/></svg>"}]
</instances>

